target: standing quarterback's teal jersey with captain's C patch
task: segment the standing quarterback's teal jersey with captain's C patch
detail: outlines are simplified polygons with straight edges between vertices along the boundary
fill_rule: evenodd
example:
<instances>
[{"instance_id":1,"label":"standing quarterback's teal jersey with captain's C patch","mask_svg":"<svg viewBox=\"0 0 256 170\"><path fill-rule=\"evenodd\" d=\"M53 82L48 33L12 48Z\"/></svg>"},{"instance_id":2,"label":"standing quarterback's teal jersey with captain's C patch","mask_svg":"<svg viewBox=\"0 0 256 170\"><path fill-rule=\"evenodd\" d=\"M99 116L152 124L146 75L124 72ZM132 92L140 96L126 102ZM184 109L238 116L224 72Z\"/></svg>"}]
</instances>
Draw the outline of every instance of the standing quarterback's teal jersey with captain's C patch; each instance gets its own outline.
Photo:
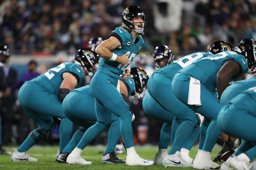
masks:
<instances>
[{"instance_id":1,"label":"standing quarterback's teal jersey with captain's C patch","mask_svg":"<svg viewBox=\"0 0 256 170\"><path fill-rule=\"evenodd\" d=\"M124 66L117 61L111 61L105 58L101 58L98 71L104 72L105 74L108 74L116 79L119 79L120 74L123 74L126 67L132 63L136 53L138 53L138 51L140 51L140 49L142 48L144 40L142 36L138 35L138 41L136 42L135 40L134 43L132 34L130 34L125 29L120 27L112 31L109 37L111 36L116 37L121 43L121 45L118 48L111 50L112 53L119 56L122 56L124 54L130 54L128 56L129 62L126 66Z\"/></svg>"}]
</instances>

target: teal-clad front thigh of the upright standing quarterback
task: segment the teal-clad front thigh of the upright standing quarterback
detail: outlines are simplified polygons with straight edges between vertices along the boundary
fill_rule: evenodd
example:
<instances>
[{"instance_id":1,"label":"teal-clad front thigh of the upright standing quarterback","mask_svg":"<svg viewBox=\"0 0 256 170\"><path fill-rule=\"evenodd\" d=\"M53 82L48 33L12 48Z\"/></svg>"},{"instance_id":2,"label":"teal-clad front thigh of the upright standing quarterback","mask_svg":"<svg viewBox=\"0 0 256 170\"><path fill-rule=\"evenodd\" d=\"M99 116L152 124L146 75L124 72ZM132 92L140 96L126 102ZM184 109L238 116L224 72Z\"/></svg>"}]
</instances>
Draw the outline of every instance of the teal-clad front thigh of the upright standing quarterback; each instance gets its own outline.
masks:
<instances>
[{"instance_id":1,"label":"teal-clad front thigh of the upright standing quarterback","mask_svg":"<svg viewBox=\"0 0 256 170\"><path fill-rule=\"evenodd\" d=\"M117 80L113 77L99 72L96 76L93 76L90 82L90 91L92 96L97 99L99 103L118 116L130 110L130 108L116 89L116 83Z\"/></svg>"}]
</instances>

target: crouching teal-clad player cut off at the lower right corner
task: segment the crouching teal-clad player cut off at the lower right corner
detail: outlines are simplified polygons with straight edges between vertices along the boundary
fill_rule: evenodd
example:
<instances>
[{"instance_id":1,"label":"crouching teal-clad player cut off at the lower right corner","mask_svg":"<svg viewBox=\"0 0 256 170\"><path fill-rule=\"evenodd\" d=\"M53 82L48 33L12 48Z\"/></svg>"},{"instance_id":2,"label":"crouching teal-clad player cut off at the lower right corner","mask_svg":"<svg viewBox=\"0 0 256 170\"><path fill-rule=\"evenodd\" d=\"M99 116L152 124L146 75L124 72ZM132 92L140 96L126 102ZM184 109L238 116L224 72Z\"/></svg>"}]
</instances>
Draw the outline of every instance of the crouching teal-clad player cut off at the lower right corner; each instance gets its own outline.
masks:
<instances>
[{"instance_id":1,"label":"crouching teal-clad player cut off at the lower right corner","mask_svg":"<svg viewBox=\"0 0 256 170\"><path fill-rule=\"evenodd\" d=\"M221 169L249 169L250 160L256 158L256 137L252 133L252 129L256 128L255 97L256 87L249 88L228 101L219 112L217 122L221 131L243 139L233 156L221 165ZM250 169L255 169L254 163Z\"/></svg>"}]
</instances>

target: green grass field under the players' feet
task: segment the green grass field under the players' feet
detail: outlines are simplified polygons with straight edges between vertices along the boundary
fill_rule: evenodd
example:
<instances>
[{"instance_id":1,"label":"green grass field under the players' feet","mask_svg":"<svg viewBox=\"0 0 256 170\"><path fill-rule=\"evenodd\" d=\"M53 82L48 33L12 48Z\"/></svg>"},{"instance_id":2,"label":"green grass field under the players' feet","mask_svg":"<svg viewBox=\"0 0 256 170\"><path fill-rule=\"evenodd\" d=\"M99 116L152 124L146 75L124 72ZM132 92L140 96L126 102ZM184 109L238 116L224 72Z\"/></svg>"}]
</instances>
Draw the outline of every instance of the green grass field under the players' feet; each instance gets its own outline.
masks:
<instances>
[{"instance_id":1,"label":"green grass field under the players' feet","mask_svg":"<svg viewBox=\"0 0 256 170\"><path fill-rule=\"evenodd\" d=\"M12 151L13 147L4 147L8 151ZM17 147L18 148L18 147ZM91 161L92 165L67 165L66 163L55 162L55 156L57 154L58 146L53 147L32 147L28 154L38 159L38 162L12 162L10 155L0 155L0 169L160 169L165 168L163 165L151 165L151 166L128 166L125 164L102 164L102 154L99 151L105 149L104 146L94 147L88 146L82 152L82 158ZM137 153L144 159L153 160L158 146L135 146ZM170 147L167 149L169 150ZM211 158L219 152L221 148L217 147L212 150ZM197 153L197 147L193 147L190 151L190 157L195 158ZM126 159L126 154L119 154L118 158ZM170 167L166 167L170 168ZM178 168L172 169L194 169L194 168Z\"/></svg>"}]
</instances>

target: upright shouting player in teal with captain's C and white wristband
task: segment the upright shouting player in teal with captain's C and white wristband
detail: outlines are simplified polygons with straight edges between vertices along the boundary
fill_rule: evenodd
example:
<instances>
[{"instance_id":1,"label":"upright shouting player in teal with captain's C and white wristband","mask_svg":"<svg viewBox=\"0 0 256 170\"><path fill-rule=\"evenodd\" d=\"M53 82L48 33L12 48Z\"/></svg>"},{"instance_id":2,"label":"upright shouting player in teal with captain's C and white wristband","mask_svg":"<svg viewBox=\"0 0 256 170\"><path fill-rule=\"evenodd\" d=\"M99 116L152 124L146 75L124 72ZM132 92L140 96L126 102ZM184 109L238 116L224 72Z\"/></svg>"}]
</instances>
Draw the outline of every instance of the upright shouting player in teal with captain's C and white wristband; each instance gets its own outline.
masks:
<instances>
[{"instance_id":1,"label":"upright shouting player in teal with captain's C and white wristband","mask_svg":"<svg viewBox=\"0 0 256 170\"><path fill-rule=\"evenodd\" d=\"M140 158L134 149L132 113L116 89L120 74L122 80L130 76L133 58L144 44L141 34L144 32L146 16L140 7L128 6L121 17L123 27L116 28L111 32L108 40L95 48L101 60L98 71L90 82L90 92L95 98L97 122L85 132L84 146L108 128L113 113L120 120L120 132L127 150L126 164L152 165L153 161ZM82 149L75 148L73 152L79 154Z\"/></svg>"}]
</instances>

